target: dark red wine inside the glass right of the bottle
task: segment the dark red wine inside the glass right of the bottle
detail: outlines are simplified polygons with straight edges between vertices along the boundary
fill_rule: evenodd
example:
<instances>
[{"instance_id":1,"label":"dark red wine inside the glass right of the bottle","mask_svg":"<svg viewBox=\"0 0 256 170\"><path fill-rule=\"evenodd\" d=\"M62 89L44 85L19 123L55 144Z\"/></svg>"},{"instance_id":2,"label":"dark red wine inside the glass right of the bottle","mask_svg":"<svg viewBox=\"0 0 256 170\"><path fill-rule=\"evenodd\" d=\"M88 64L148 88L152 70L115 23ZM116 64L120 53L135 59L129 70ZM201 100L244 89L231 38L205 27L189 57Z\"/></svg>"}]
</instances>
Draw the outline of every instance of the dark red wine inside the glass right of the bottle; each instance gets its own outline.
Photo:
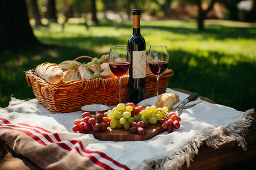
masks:
<instances>
[{"instance_id":1,"label":"dark red wine inside the glass right of the bottle","mask_svg":"<svg viewBox=\"0 0 256 170\"><path fill-rule=\"evenodd\" d=\"M149 61L148 66L154 75L162 75L168 66L167 61Z\"/></svg>"}]
</instances>

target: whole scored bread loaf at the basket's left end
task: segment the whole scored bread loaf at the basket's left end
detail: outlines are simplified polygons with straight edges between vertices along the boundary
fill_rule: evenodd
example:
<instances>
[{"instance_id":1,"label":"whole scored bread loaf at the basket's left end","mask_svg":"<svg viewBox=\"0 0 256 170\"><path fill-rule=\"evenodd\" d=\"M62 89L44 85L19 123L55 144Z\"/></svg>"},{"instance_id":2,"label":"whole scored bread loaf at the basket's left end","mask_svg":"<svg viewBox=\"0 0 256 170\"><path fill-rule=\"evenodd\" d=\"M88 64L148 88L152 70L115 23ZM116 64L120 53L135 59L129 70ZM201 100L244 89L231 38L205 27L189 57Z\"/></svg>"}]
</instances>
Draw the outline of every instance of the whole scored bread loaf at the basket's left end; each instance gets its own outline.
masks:
<instances>
[{"instance_id":1,"label":"whole scored bread loaf at the basket's left end","mask_svg":"<svg viewBox=\"0 0 256 170\"><path fill-rule=\"evenodd\" d=\"M57 84L63 78L63 70L56 63L45 62L38 65L35 73L50 84Z\"/></svg>"}]
</instances>

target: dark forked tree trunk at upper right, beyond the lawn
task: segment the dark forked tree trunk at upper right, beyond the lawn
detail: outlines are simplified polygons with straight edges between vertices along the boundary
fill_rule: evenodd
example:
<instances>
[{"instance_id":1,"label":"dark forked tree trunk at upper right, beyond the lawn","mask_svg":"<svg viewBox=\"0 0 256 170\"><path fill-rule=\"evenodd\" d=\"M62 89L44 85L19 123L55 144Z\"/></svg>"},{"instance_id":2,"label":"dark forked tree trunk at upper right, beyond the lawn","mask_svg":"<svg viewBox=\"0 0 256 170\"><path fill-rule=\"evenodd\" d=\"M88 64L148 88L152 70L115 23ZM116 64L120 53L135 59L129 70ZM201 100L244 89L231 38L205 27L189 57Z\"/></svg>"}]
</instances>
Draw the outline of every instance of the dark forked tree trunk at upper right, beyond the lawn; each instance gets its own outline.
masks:
<instances>
[{"instance_id":1,"label":"dark forked tree trunk at upper right, beyond the lawn","mask_svg":"<svg viewBox=\"0 0 256 170\"><path fill-rule=\"evenodd\" d=\"M211 0L208 8L206 10L203 10L201 0L196 0L196 5L198 6L197 28L199 30L204 29L204 19L205 19L207 13L210 10L212 10L215 1L216 0Z\"/></svg>"}]
</instances>

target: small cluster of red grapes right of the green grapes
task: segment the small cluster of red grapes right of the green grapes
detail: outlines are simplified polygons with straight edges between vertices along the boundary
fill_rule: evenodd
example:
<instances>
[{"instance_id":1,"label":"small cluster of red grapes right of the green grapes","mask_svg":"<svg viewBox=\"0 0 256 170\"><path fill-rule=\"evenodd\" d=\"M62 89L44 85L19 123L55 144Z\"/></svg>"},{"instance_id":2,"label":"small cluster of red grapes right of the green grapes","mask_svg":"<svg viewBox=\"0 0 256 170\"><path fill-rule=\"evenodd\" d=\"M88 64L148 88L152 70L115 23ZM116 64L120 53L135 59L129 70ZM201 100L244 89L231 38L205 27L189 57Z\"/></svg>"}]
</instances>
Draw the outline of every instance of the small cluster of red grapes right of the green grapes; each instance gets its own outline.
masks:
<instances>
[{"instance_id":1,"label":"small cluster of red grapes right of the green grapes","mask_svg":"<svg viewBox=\"0 0 256 170\"><path fill-rule=\"evenodd\" d=\"M160 120L162 128L167 129L168 133L172 133L175 129L180 128L181 118L176 115L175 112L166 113L166 115Z\"/></svg>"}]
</instances>

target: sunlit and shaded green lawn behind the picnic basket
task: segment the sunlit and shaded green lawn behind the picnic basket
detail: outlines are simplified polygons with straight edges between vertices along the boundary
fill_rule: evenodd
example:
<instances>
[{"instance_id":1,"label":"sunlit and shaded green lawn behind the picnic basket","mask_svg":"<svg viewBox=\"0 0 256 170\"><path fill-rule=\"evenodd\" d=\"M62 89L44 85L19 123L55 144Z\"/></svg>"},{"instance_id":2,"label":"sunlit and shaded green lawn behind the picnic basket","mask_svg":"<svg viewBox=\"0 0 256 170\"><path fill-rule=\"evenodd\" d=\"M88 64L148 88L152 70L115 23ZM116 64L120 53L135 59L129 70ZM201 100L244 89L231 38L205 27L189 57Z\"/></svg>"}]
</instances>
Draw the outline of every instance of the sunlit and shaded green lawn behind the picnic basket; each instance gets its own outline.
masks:
<instances>
[{"instance_id":1,"label":"sunlit and shaded green lawn behind the picnic basket","mask_svg":"<svg viewBox=\"0 0 256 170\"><path fill-rule=\"evenodd\" d=\"M239 111L255 108L256 24L209 20L204 31L197 31L195 22L160 20L142 21L141 27L146 52L151 44L168 46L169 68L174 70L168 87L199 92ZM111 45L127 44L131 32L131 22L115 29L112 22L104 21L89 30L81 23L66 24L64 32L59 24L34 29L41 42L57 48L1 54L0 106L6 107L10 97L34 97L23 71L42 62L101 57Z\"/></svg>"}]
</instances>

